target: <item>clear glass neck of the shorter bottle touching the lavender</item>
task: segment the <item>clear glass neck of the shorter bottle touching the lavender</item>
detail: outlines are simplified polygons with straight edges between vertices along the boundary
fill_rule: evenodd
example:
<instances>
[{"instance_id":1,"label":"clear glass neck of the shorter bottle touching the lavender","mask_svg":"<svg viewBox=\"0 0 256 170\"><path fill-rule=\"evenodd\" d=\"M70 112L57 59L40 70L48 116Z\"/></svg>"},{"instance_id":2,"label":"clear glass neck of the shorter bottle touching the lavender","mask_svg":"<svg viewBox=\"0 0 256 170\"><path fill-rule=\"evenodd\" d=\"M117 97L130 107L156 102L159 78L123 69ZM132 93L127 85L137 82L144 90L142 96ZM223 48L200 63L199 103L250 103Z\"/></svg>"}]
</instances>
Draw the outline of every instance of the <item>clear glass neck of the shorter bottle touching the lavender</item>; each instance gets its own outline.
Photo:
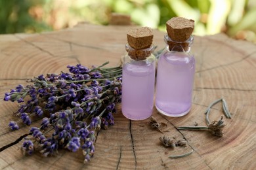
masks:
<instances>
[{"instance_id":1,"label":"clear glass neck of the shorter bottle touching the lavender","mask_svg":"<svg viewBox=\"0 0 256 170\"><path fill-rule=\"evenodd\" d=\"M154 52L155 48L154 48L154 44L151 44L151 46L148 48L137 50L137 49L131 47L127 43L127 44L125 44L125 50L127 51L128 55L132 59L138 61L138 60L144 60L144 59L148 58L148 56L150 56L152 54L152 52Z\"/></svg>"}]
</instances>

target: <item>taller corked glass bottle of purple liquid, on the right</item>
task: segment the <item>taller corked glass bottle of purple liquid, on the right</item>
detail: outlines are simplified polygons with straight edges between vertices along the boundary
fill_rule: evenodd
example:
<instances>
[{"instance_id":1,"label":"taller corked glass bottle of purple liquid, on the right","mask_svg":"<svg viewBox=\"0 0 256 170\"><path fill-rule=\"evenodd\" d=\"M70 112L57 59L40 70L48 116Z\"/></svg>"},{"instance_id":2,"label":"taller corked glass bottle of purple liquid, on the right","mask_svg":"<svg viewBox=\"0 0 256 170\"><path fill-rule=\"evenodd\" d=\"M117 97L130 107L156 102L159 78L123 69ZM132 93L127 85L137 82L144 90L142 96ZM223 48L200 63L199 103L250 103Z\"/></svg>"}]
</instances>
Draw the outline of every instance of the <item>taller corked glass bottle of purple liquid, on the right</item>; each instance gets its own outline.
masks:
<instances>
[{"instance_id":1,"label":"taller corked glass bottle of purple liquid, on the right","mask_svg":"<svg viewBox=\"0 0 256 170\"><path fill-rule=\"evenodd\" d=\"M167 46L158 60L156 109L166 116L179 117L192 106L195 59L190 46L194 20L174 17L166 25Z\"/></svg>"}]
</instances>

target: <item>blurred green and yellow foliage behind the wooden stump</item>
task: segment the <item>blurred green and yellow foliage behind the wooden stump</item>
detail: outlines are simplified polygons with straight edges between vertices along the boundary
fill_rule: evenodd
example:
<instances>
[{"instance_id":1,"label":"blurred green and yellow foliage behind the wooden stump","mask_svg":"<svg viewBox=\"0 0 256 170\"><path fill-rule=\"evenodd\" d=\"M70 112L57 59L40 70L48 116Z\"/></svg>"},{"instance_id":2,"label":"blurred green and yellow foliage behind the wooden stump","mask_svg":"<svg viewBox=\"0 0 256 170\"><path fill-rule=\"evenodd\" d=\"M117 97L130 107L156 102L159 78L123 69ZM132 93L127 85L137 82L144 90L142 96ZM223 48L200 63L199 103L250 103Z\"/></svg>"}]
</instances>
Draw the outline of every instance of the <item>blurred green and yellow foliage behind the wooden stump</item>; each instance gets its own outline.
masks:
<instances>
[{"instance_id":1,"label":"blurred green and yellow foliage behind the wooden stump","mask_svg":"<svg viewBox=\"0 0 256 170\"><path fill-rule=\"evenodd\" d=\"M112 12L160 31L182 16L195 20L195 35L223 32L256 42L256 0L1 0L0 33L53 31L82 21L107 25Z\"/></svg>"}]
</instances>

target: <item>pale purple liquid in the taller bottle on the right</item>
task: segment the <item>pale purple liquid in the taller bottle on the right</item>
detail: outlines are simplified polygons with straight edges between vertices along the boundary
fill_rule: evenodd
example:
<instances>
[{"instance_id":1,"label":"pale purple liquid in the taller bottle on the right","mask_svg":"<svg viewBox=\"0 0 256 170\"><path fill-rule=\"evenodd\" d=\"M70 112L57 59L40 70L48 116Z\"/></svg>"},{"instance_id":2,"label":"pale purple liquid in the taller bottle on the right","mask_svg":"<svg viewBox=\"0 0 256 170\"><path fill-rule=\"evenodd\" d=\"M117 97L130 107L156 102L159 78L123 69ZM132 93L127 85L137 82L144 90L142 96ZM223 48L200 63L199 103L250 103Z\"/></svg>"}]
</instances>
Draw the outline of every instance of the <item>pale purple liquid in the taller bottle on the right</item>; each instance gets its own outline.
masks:
<instances>
[{"instance_id":1,"label":"pale purple liquid in the taller bottle on the right","mask_svg":"<svg viewBox=\"0 0 256 170\"><path fill-rule=\"evenodd\" d=\"M183 116L190 111L195 72L194 56L170 52L168 47L158 61L156 109L166 116Z\"/></svg>"}]
</instances>

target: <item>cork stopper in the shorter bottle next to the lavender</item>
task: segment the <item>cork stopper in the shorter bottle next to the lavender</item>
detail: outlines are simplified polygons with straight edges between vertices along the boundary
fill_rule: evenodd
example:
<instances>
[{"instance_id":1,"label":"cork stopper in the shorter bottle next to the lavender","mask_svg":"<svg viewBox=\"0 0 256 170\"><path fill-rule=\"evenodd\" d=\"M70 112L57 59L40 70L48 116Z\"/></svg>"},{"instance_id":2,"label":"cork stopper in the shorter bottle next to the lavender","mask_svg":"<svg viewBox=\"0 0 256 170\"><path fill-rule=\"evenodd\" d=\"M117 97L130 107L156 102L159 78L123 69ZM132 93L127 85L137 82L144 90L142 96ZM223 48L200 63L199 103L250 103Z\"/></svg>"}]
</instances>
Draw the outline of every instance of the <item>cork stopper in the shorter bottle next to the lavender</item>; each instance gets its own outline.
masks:
<instances>
[{"instance_id":1,"label":"cork stopper in the shorter bottle next to the lavender","mask_svg":"<svg viewBox=\"0 0 256 170\"><path fill-rule=\"evenodd\" d=\"M127 33L128 55L135 60L146 59L152 53L153 31L150 27L131 29ZM154 45L153 45L154 46Z\"/></svg>"}]
</instances>

